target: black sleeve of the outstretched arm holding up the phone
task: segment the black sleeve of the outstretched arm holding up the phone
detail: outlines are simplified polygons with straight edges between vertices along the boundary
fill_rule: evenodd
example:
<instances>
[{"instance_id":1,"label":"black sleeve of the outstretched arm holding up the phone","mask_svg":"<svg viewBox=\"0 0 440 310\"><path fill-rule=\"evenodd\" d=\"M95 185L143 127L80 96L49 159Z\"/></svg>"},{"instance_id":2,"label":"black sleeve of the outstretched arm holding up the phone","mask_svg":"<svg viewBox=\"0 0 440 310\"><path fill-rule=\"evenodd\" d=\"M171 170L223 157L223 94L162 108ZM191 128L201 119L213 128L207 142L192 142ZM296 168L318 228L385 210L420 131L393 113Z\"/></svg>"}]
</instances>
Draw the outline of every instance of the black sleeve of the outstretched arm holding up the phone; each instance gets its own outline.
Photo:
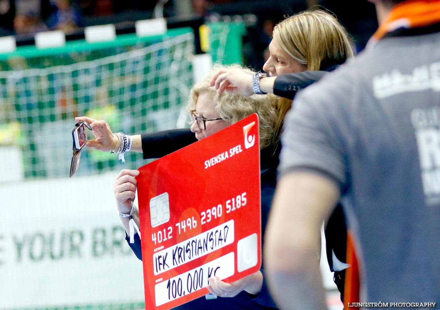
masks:
<instances>
[{"instance_id":1,"label":"black sleeve of the outstretched arm holding up the phone","mask_svg":"<svg viewBox=\"0 0 440 310\"><path fill-rule=\"evenodd\" d=\"M189 128L143 133L143 159L161 158L197 141Z\"/></svg>"}]
</instances>

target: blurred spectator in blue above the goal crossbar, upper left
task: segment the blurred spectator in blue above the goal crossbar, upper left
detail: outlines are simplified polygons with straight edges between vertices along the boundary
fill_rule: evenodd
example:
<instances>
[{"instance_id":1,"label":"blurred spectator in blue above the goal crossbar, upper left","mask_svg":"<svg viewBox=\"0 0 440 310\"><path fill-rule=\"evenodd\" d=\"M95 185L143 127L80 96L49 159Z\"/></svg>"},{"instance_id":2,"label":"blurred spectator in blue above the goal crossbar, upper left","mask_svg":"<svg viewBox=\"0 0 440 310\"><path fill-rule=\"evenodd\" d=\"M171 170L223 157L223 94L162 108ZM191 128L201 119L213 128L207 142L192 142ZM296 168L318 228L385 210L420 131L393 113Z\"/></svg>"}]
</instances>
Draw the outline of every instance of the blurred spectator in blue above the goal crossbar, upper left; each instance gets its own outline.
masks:
<instances>
[{"instance_id":1,"label":"blurred spectator in blue above the goal crossbar, upper left","mask_svg":"<svg viewBox=\"0 0 440 310\"><path fill-rule=\"evenodd\" d=\"M47 21L48 28L70 32L83 25L80 12L75 9L69 0L55 0L56 10Z\"/></svg>"}]
</instances>

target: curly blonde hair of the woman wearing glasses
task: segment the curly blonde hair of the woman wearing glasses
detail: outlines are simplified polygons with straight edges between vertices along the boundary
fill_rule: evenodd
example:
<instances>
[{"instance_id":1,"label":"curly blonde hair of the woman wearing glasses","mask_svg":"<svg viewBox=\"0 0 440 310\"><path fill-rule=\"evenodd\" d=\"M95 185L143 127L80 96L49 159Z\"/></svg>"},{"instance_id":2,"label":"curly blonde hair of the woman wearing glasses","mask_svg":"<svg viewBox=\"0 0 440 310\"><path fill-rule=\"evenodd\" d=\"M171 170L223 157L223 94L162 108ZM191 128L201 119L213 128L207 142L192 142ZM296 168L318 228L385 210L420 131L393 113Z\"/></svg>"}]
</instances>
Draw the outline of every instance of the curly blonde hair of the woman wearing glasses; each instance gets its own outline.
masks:
<instances>
[{"instance_id":1,"label":"curly blonde hair of the woman wearing glasses","mask_svg":"<svg viewBox=\"0 0 440 310\"><path fill-rule=\"evenodd\" d=\"M248 74L254 74L252 70L243 68L240 65L214 65L213 69L200 82L191 88L191 94L187 103L187 112L195 110L198 96L208 93L216 103L216 111L228 125L237 123L253 113L258 115L258 125L260 128L260 148L265 148L271 144L272 134L277 121L275 96L252 95L245 97L239 94L223 92L219 94L217 90L209 86L213 76L221 69L238 68Z\"/></svg>"}]
</instances>

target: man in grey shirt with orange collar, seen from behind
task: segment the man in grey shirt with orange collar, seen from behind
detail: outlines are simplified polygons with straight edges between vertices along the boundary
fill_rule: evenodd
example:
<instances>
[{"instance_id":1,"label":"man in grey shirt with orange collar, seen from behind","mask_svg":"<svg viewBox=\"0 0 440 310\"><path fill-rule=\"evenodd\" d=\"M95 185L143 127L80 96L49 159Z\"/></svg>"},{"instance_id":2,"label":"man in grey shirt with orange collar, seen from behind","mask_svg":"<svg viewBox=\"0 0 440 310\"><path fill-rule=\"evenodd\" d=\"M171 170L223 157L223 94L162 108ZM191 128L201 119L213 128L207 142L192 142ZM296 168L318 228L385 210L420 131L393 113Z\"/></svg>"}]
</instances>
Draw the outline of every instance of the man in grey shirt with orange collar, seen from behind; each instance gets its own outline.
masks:
<instances>
[{"instance_id":1,"label":"man in grey shirt with orange collar, seen from behind","mask_svg":"<svg viewBox=\"0 0 440 310\"><path fill-rule=\"evenodd\" d=\"M340 197L360 306L439 308L440 1L370 1L380 27L367 50L286 118L264 248L281 309L325 309L319 227Z\"/></svg>"}]
</instances>

